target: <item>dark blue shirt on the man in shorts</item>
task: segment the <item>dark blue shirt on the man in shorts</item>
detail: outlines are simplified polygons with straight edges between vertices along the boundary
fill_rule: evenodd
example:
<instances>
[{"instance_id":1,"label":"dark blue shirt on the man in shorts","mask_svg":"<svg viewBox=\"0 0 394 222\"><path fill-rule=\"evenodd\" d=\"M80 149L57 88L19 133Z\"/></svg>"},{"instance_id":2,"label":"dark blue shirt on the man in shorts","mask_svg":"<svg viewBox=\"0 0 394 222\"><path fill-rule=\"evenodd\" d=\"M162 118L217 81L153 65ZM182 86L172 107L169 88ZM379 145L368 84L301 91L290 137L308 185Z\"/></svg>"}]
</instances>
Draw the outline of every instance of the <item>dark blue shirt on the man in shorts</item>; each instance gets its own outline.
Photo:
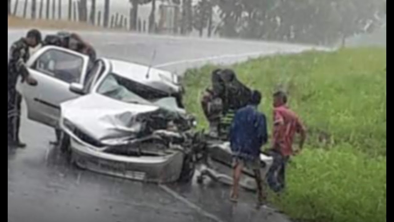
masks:
<instances>
[{"instance_id":1,"label":"dark blue shirt on the man in shorts","mask_svg":"<svg viewBox=\"0 0 394 222\"><path fill-rule=\"evenodd\" d=\"M260 155L260 148L267 143L266 116L248 105L239 109L230 128L230 147L233 156L252 160Z\"/></svg>"}]
</instances>

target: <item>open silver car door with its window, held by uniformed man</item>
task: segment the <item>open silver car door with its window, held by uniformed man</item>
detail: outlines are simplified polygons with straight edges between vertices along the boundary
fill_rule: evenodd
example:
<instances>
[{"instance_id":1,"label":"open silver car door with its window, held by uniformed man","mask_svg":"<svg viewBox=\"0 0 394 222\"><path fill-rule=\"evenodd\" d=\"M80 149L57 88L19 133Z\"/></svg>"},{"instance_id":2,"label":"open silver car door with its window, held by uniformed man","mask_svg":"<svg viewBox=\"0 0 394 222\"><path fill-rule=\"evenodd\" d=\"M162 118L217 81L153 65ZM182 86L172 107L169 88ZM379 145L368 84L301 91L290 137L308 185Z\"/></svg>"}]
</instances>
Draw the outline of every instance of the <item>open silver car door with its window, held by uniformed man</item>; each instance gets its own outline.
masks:
<instances>
[{"instance_id":1,"label":"open silver car door with its window, held by uniformed man","mask_svg":"<svg viewBox=\"0 0 394 222\"><path fill-rule=\"evenodd\" d=\"M20 85L26 100L28 119L58 126L60 103L80 96L71 92L71 83L83 85L89 57L56 46L46 46L37 51L27 62L36 86Z\"/></svg>"}]
</instances>

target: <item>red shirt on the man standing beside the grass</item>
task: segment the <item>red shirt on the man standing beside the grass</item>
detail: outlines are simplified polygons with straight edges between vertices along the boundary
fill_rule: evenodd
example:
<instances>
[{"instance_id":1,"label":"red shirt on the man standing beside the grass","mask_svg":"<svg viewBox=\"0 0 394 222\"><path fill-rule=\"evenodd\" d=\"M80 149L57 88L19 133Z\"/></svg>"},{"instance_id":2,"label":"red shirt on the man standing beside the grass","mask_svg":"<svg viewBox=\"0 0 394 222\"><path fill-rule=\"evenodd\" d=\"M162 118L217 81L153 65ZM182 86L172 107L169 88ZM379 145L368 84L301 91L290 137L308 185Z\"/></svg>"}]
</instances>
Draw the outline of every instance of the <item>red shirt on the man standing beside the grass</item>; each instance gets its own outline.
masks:
<instances>
[{"instance_id":1,"label":"red shirt on the man standing beside the grass","mask_svg":"<svg viewBox=\"0 0 394 222\"><path fill-rule=\"evenodd\" d=\"M303 130L304 126L297 114L285 105L274 108L273 119L273 148L279 149L283 156L290 156L293 154L294 134Z\"/></svg>"}]
</instances>

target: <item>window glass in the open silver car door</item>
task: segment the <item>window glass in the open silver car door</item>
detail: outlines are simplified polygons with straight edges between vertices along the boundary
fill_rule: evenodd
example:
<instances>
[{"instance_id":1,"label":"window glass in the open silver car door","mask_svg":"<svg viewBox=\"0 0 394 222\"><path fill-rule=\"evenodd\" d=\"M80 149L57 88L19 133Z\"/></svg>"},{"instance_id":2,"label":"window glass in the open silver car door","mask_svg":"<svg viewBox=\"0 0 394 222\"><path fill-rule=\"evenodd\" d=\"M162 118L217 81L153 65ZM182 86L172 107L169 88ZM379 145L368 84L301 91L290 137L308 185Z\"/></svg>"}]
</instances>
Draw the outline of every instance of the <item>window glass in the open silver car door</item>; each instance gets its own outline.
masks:
<instances>
[{"instance_id":1,"label":"window glass in the open silver car door","mask_svg":"<svg viewBox=\"0 0 394 222\"><path fill-rule=\"evenodd\" d=\"M64 51L50 49L33 64L33 69L66 83L79 83L84 59Z\"/></svg>"}]
</instances>

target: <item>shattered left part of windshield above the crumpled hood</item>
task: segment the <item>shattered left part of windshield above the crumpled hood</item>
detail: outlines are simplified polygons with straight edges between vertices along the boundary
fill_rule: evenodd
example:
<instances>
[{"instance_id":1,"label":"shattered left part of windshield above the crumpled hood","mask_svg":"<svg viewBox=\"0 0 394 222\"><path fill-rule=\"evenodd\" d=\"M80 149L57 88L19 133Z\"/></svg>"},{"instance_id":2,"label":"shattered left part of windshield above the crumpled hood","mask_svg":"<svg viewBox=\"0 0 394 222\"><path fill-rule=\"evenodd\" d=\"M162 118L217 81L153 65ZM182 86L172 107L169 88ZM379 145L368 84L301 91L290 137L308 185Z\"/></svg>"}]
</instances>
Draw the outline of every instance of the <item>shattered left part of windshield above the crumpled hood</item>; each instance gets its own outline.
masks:
<instances>
[{"instance_id":1,"label":"shattered left part of windshield above the crumpled hood","mask_svg":"<svg viewBox=\"0 0 394 222\"><path fill-rule=\"evenodd\" d=\"M122 102L152 104L151 102L132 92L132 90L129 88L129 82L130 80L126 78L114 73L110 73L105 77L104 81L102 81L97 92Z\"/></svg>"}]
</instances>

